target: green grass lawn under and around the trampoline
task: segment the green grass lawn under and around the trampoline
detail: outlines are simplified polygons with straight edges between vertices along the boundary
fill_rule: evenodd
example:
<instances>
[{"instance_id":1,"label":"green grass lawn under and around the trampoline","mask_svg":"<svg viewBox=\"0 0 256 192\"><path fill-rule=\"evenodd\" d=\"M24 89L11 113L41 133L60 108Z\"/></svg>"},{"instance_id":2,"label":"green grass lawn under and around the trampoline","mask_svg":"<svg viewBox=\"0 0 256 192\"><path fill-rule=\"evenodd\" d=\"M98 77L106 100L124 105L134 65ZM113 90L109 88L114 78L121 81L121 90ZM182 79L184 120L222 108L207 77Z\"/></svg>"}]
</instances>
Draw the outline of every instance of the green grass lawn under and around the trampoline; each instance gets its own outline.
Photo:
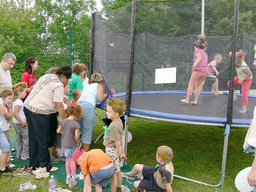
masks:
<instances>
[{"instance_id":1,"label":"green grass lawn under and around the trampoline","mask_svg":"<svg viewBox=\"0 0 256 192\"><path fill-rule=\"evenodd\" d=\"M104 111L101 109L96 109L96 113L103 118L105 117ZM172 163L175 174L214 185L220 182L225 129L164 122L145 123L138 118L129 118L129 123L129 131L133 138L128 143L127 164L140 163L155 166L157 147L167 145L172 148L174 153ZM103 132L102 126L103 123L96 117L94 128L96 138ZM11 135L15 135L13 128L10 129L10 132ZM238 191L234 183L236 174L245 167L251 166L253 161L252 154L243 153L246 132L247 129L231 129L230 131L224 189L174 178L173 191ZM95 145L92 144L91 148L104 150L102 142L103 138ZM25 183L28 180L37 185L37 189L34 191L44 192L48 190L47 178L37 180L32 174L18 176L16 173L14 178L0 177L0 191L19 191L20 183ZM59 181L58 185L67 188L66 184ZM71 191L78 192L80 190L71 188Z\"/></svg>"}]
</instances>

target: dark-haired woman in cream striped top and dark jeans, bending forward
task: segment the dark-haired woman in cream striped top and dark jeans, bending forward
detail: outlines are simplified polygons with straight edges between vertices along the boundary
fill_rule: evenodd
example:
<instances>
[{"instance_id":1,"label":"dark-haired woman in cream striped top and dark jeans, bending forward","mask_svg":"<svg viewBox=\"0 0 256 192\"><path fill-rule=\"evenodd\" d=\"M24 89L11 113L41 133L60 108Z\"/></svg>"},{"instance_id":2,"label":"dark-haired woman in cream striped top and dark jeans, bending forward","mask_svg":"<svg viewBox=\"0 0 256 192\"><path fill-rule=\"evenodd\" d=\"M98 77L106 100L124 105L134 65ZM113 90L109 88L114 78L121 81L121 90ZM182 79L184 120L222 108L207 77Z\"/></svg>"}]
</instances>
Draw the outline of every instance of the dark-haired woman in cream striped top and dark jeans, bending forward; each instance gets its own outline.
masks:
<instances>
[{"instance_id":1,"label":"dark-haired woman in cream striped top and dark jeans, bending forward","mask_svg":"<svg viewBox=\"0 0 256 192\"><path fill-rule=\"evenodd\" d=\"M50 115L57 108L61 119L65 119L63 106L64 86L71 78L68 65L61 66L55 74L40 77L24 102L24 113L28 122L29 165L46 167L47 171L57 171L52 167L48 144L50 141ZM39 169L38 169L39 170ZM47 173L38 172L38 177Z\"/></svg>"}]
</instances>

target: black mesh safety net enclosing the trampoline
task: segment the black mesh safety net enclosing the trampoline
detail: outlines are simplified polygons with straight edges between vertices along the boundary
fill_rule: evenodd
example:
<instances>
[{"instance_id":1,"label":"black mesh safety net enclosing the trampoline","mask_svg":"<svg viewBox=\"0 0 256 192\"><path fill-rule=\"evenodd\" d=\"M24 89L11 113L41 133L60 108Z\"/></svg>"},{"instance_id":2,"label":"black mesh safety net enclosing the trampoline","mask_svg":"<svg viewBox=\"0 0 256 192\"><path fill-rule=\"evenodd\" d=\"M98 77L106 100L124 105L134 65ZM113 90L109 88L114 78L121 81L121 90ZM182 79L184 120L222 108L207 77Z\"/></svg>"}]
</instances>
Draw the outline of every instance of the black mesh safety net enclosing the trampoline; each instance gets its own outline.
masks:
<instances>
[{"instance_id":1,"label":"black mesh safety net enclosing the trampoline","mask_svg":"<svg viewBox=\"0 0 256 192\"><path fill-rule=\"evenodd\" d=\"M197 106L192 106L180 100L186 98L188 82L193 72L191 66L195 48L192 43L197 40L197 35L201 32L201 1L197 4L188 0L137 1L131 112L194 122L223 124L226 122L227 83L231 63L228 52L231 51L232 36L218 36L220 23L211 20L212 14L218 16L218 13L212 13L212 7L225 3L226 1L223 0L205 1L204 30L208 42L205 51L208 54L208 63L214 60L215 54L222 55L222 62L217 64L216 68L220 73L219 90L224 94L211 94L212 81L205 80L199 103ZM230 6L223 7L227 9L225 10L227 15L233 17L234 2ZM95 14L93 73L100 73L106 77L108 87L115 88L122 100L125 100L127 84L131 12L132 4L128 4L111 12ZM255 35L237 36L237 50L247 51L245 62L253 76L255 76L255 67L252 66L255 43ZM156 69L168 67L176 67L176 83L155 84ZM253 80L249 91L249 95L252 96L249 97L247 113L239 113L242 109L241 97L234 102L233 123L250 123L256 105L253 96L256 95L255 86ZM237 85L235 89L240 96L241 86ZM193 95L191 100L194 100Z\"/></svg>"}]
</instances>

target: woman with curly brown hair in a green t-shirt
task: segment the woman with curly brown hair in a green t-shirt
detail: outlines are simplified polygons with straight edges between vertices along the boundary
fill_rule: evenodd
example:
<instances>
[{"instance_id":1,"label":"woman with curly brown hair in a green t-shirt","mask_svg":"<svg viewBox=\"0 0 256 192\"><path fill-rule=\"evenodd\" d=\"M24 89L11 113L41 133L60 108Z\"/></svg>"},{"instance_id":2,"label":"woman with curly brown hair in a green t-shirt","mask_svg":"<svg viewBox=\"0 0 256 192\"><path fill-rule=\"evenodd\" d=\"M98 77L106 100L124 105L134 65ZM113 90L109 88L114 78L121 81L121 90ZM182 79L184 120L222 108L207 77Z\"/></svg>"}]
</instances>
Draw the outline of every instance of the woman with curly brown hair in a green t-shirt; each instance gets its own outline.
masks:
<instances>
[{"instance_id":1,"label":"woman with curly brown hair in a green t-shirt","mask_svg":"<svg viewBox=\"0 0 256 192\"><path fill-rule=\"evenodd\" d=\"M79 75L83 72L83 67L80 63L75 63L72 65L72 77L68 80L70 92L67 94L69 100L73 99L72 91L75 89L80 89L83 91L83 82Z\"/></svg>"}]
</instances>

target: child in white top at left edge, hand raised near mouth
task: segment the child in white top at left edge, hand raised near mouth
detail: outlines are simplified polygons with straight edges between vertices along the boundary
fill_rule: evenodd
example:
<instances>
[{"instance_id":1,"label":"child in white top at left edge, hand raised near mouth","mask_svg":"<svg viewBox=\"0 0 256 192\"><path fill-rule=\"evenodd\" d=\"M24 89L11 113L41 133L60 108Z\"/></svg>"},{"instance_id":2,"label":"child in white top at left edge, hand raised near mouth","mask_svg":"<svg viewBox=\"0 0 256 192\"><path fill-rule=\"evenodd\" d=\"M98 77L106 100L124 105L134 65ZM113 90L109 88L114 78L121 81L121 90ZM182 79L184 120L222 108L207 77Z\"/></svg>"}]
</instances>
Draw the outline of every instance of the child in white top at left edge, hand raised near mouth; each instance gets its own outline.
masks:
<instances>
[{"instance_id":1,"label":"child in white top at left edge, hand raised near mouth","mask_svg":"<svg viewBox=\"0 0 256 192\"><path fill-rule=\"evenodd\" d=\"M12 148L11 141L10 141L10 133L9 133L9 129L10 129L9 122L11 121L11 118L12 118L12 92L8 89L4 89L0 93L0 97L3 100L4 107L5 107L5 114L0 115L0 127L4 131L6 139L8 140L10 147ZM6 107L9 107L9 111L7 110ZM10 162L11 153L12 151L10 150L6 165L10 167L14 167L15 165Z\"/></svg>"}]
</instances>

